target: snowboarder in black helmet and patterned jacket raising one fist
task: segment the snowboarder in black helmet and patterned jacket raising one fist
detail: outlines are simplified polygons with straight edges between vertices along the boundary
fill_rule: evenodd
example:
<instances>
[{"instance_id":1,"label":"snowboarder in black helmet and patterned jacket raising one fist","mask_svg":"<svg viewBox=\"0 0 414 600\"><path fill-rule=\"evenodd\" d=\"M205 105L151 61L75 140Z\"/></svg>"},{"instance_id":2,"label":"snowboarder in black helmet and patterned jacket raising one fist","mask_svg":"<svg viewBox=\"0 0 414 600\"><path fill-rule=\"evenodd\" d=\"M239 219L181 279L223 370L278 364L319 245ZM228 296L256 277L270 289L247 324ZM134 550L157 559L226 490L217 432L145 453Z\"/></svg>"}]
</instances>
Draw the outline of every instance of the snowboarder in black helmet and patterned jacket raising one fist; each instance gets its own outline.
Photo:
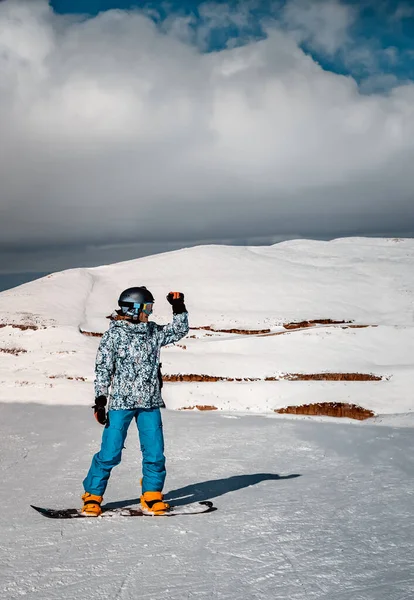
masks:
<instances>
[{"instance_id":1,"label":"snowboarder in black helmet and patterned jacket raising one fist","mask_svg":"<svg viewBox=\"0 0 414 600\"><path fill-rule=\"evenodd\" d=\"M95 365L94 415L104 425L100 451L83 481L82 513L98 517L113 467L121 462L128 427L135 419L142 452L142 495L144 512L163 514L166 477L164 437L160 407L162 377L160 350L188 333L184 294L170 292L173 318L167 325L148 321L154 297L146 287L133 287L119 297L119 310L111 316L109 329L98 348ZM108 391L109 410L106 410Z\"/></svg>"}]
</instances>

